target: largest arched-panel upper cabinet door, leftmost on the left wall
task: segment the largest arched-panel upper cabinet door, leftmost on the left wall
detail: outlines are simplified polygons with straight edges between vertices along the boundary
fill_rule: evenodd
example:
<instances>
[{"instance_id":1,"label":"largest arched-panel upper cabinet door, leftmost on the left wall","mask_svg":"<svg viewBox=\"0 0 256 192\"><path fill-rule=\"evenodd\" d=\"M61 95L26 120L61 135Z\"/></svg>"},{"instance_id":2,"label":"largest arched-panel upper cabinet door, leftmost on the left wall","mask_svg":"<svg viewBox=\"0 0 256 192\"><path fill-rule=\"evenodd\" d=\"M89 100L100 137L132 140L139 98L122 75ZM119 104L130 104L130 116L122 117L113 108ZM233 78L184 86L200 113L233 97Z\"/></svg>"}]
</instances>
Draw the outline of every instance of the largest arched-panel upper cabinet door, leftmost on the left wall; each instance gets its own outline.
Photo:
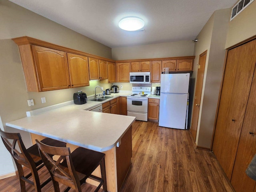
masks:
<instances>
[{"instance_id":1,"label":"largest arched-panel upper cabinet door, leftmost on the left wall","mask_svg":"<svg viewBox=\"0 0 256 192\"><path fill-rule=\"evenodd\" d=\"M70 87L66 52L32 45L39 90Z\"/></svg>"}]
</instances>

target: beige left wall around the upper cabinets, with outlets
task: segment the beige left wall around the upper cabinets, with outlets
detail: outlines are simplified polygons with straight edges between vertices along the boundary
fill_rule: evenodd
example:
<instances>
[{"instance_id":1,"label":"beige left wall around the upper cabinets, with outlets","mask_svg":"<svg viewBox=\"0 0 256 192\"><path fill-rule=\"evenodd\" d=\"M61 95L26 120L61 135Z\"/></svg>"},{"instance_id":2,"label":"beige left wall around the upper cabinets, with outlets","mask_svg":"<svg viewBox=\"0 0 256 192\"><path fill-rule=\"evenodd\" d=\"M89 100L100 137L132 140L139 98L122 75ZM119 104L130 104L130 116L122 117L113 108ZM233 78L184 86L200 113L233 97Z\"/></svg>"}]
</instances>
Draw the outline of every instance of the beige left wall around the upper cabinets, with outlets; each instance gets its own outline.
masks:
<instances>
[{"instance_id":1,"label":"beige left wall around the upper cabinets, with outlets","mask_svg":"<svg viewBox=\"0 0 256 192\"><path fill-rule=\"evenodd\" d=\"M99 81L90 81L90 87L40 93L27 92L18 46L11 38L30 36L105 58L112 57L111 48L8 0L0 0L0 29L0 116L4 125L6 122L26 117L28 110L72 100L73 93L78 90L88 95L93 94L94 87L100 84ZM106 89L112 84L100 84L100 86ZM41 97L46 97L45 104L41 103ZM28 107L28 99L34 99L35 105ZM6 130L11 131L10 128ZM22 132L22 138L26 146L31 144L28 133ZM0 167L3 166L4 162L0 159Z\"/></svg>"}]
</instances>

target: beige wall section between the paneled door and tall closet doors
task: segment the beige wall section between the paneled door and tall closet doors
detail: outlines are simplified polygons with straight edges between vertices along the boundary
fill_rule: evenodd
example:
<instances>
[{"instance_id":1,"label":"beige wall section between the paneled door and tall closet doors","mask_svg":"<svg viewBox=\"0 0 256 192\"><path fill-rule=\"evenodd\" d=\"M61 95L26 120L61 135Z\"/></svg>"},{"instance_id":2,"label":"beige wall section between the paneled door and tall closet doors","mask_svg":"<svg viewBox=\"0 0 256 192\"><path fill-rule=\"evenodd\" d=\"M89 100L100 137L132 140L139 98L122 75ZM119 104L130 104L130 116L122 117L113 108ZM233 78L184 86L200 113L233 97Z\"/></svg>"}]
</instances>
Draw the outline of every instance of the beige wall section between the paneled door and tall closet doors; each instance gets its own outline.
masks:
<instances>
[{"instance_id":1,"label":"beige wall section between the paneled door and tall closet doors","mask_svg":"<svg viewBox=\"0 0 256 192\"><path fill-rule=\"evenodd\" d=\"M204 84L201 98L201 108L198 119L196 142L198 147L210 149L214 130L216 108L222 81L223 65L225 60L225 43L228 30L230 9L217 10L213 14L210 48L207 51L208 60L204 74ZM212 24L212 22L210 22ZM200 35L198 36L200 38ZM209 46L209 42L205 46ZM202 50L195 48L196 57Z\"/></svg>"}]
</instances>

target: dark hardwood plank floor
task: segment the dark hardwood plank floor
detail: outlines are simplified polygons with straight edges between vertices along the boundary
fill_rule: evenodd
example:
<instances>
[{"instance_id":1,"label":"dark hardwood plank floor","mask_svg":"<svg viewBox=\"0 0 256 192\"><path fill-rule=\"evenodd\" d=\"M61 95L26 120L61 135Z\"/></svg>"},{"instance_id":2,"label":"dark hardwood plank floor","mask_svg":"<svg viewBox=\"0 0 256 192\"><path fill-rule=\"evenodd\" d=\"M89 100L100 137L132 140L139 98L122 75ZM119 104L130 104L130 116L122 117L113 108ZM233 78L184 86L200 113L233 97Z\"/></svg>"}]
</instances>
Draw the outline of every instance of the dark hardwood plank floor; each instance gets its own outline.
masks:
<instances>
[{"instance_id":1,"label":"dark hardwood plank floor","mask_svg":"<svg viewBox=\"0 0 256 192\"><path fill-rule=\"evenodd\" d=\"M25 171L26 168L25 168ZM40 179L50 176L46 168ZM60 184L61 191L65 186ZM26 185L28 192L34 187ZM96 187L86 184L83 191ZM0 192L19 192L18 177L0 180ZM52 182L42 192L52 192ZM70 190L74 192L74 190ZM101 192L101 191L100 191ZM132 126L132 166L121 192L233 192L214 154L195 149L189 130L136 121Z\"/></svg>"}]
</instances>

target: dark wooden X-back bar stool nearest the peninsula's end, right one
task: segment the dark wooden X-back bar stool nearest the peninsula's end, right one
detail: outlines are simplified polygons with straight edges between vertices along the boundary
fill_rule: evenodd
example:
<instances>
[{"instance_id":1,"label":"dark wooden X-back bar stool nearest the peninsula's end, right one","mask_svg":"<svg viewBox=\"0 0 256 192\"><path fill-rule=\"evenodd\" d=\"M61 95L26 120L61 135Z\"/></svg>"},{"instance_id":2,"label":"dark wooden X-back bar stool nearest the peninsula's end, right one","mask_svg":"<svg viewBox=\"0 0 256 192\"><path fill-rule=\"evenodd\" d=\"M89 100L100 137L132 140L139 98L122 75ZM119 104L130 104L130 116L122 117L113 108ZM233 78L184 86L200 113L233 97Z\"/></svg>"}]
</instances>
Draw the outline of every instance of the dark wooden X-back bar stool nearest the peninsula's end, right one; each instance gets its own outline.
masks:
<instances>
[{"instance_id":1,"label":"dark wooden X-back bar stool nearest the peninsula's end, right one","mask_svg":"<svg viewBox=\"0 0 256 192\"><path fill-rule=\"evenodd\" d=\"M105 154L95 152L82 147L76 148L70 153L69 147L54 147L43 144L36 140L42 160L50 172L55 192L60 192L59 182L68 186L65 192L73 188L76 192L81 192L81 184L87 178L100 182L94 192L97 192L103 185L103 190L107 191ZM55 162L52 155L60 156ZM63 161L62 161L63 160ZM100 165L101 178L93 176L92 172Z\"/></svg>"}]
</instances>

